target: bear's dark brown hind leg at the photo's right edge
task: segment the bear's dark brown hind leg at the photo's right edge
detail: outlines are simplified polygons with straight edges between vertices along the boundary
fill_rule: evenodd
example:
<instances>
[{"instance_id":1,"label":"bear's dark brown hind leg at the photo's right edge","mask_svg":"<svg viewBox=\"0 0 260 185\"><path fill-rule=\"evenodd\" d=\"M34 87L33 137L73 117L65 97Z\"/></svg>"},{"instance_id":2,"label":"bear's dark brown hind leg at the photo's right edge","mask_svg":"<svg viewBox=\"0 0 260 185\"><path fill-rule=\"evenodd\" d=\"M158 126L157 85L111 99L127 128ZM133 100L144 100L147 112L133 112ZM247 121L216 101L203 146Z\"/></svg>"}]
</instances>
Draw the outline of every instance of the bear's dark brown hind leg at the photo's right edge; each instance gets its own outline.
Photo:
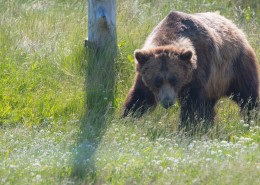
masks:
<instances>
[{"instance_id":1,"label":"bear's dark brown hind leg at the photo's right edge","mask_svg":"<svg viewBox=\"0 0 260 185\"><path fill-rule=\"evenodd\" d=\"M259 120L259 76L256 58L252 52L241 55L234 64L234 80L227 96L231 96L241 109L246 121ZM252 111L255 110L255 111ZM254 113L253 113L254 112Z\"/></svg>"}]
</instances>

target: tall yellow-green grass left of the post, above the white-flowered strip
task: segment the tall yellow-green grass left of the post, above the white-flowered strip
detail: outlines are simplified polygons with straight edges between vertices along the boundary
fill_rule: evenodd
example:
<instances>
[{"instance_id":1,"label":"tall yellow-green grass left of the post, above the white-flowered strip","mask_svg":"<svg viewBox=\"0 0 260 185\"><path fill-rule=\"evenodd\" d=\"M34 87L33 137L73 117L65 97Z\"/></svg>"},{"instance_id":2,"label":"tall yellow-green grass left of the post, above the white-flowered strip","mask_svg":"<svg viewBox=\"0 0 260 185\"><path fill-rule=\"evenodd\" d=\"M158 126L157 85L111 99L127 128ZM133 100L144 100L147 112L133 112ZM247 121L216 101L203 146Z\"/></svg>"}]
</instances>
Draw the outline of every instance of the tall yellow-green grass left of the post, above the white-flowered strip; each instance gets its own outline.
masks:
<instances>
[{"instance_id":1,"label":"tall yellow-green grass left of the post, above the white-flowered strip","mask_svg":"<svg viewBox=\"0 0 260 185\"><path fill-rule=\"evenodd\" d=\"M86 11L77 4L1 2L2 124L35 125L80 112Z\"/></svg>"}]
</instances>

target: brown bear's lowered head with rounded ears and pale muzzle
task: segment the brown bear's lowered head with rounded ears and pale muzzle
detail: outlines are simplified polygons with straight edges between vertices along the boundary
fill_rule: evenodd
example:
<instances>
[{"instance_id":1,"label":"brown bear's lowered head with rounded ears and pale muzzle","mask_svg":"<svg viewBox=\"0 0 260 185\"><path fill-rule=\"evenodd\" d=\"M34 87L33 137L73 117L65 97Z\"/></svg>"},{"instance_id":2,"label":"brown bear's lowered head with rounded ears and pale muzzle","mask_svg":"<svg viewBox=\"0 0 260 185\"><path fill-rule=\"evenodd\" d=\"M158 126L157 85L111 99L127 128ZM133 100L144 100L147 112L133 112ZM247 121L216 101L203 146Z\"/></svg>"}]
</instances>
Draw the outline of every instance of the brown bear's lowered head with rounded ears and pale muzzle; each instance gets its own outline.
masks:
<instances>
[{"instance_id":1,"label":"brown bear's lowered head with rounded ears and pale muzzle","mask_svg":"<svg viewBox=\"0 0 260 185\"><path fill-rule=\"evenodd\" d=\"M173 105L182 87L191 81L196 60L193 48L173 45L135 51L137 73L164 108Z\"/></svg>"}]
</instances>

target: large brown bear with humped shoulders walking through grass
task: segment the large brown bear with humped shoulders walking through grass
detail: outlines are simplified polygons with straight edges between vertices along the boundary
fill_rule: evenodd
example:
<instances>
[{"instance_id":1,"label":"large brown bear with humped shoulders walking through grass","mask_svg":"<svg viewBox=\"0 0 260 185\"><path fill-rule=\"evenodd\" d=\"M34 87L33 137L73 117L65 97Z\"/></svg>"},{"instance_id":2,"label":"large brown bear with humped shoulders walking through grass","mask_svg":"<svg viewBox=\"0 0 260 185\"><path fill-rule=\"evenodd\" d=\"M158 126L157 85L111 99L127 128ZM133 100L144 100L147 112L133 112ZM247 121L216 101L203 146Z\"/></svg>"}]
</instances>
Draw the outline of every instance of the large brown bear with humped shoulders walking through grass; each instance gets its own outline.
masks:
<instances>
[{"instance_id":1,"label":"large brown bear with humped shoulders walking through grass","mask_svg":"<svg viewBox=\"0 0 260 185\"><path fill-rule=\"evenodd\" d=\"M123 117L178 100L181 128L187 128L196 120L213 122L214 106L223 96L247 113L259 108L255 52L245 34L217 13L171 12L134 56L136 78Z\"/></svg>"}]
</instances>

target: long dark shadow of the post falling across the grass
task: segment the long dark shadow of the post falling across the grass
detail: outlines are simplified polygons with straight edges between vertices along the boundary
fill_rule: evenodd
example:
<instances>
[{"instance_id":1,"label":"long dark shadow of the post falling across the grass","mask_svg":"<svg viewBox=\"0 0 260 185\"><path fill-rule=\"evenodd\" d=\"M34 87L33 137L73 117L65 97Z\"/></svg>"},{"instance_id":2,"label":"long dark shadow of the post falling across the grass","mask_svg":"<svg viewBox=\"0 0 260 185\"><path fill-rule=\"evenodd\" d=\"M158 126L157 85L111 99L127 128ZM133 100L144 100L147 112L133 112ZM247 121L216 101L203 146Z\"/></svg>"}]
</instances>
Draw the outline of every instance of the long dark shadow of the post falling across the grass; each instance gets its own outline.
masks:
<instances>
[{"instance_id":1,"label":"long dark shadow of the post falling across the grass","mask_svg":"<svg viewBox=\"0 0 260 185\"><path fill-rule=\"evenodd\" d=\"M72 178L79 183L95 183L95 153L113 115L116 50L115 42L110 43L99 50L87 45L84 53L86 113L81 120L72 169Z\"/></svg>"}]
</instances>

